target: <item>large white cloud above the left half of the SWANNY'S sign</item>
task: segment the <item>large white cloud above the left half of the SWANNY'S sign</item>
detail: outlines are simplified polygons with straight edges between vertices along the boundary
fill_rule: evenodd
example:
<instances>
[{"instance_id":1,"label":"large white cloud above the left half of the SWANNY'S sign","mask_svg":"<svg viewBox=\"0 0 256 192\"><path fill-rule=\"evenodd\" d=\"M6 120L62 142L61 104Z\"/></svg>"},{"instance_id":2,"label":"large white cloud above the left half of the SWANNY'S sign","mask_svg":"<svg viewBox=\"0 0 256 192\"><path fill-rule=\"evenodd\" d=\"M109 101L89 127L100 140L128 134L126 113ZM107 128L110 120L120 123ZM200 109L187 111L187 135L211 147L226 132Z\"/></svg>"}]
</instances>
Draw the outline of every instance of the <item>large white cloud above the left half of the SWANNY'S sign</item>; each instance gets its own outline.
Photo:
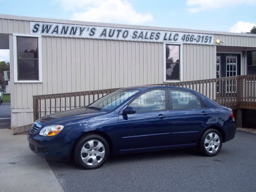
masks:
<instances>
[{"instance_id":1,"label":"large white cloud above the left half of the SWANNY'S sign","mask_svg":"<svg viewBox=\"0 0 256 192\"><path fill-rule=\"evenodd\" d=\"M72 10L71 20L142 24L153 21L150 13L138 13L125 0L52 0L64 10Z\"/></svg>"}]
</instances>

